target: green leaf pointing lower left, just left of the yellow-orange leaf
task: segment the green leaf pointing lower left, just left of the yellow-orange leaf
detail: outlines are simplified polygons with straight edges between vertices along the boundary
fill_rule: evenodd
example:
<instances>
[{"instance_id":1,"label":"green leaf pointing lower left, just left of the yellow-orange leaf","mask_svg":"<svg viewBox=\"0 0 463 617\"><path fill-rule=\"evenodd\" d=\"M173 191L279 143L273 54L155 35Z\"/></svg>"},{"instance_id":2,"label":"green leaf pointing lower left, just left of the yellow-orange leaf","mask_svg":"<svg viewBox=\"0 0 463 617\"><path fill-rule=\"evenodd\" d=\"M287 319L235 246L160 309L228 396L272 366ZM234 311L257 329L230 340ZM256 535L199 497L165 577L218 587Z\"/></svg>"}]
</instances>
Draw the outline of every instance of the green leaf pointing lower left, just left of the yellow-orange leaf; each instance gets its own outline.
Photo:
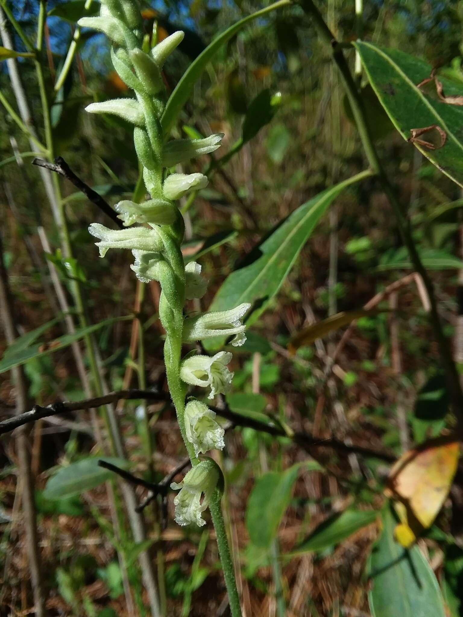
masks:
<instances>
[{"instance_id":1,"label":"green leaf pointing lower left, just left of the yellow-orange leaf","mask_svg":"<svg viewBox=\"0 0 463 617\"><path fill-rule=\"evenodd\" d=\"M302 540L301 544L291 550L290 555L299 555L307 552L317 552L340 544L356 531L362 529L378 518L374 510L356 510L348 508L336 513L320 523L314 531Z\"/></svg>"}]
</instances>

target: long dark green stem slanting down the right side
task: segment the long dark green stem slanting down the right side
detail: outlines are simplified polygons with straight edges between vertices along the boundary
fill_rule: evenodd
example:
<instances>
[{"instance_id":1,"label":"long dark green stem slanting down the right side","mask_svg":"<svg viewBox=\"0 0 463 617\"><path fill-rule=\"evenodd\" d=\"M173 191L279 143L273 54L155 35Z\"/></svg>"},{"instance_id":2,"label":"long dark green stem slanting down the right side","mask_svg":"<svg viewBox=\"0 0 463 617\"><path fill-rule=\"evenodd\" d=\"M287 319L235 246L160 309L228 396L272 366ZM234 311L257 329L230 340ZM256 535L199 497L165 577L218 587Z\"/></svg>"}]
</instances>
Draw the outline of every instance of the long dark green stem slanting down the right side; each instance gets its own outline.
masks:
<instances>
[{"instance_id":1,"label":"long dark green stem slanting down the right side","mask_svg":"<svg viewBox=\"0 0 463 617\"><path fill-rule=\"evenodd\" d=\"M314 22L315 28L319 33L320 38L332 49L333 60L338 66L341 73L341 81L343 81L346 95L349 100L349 104L352 109L352 115L356 121L357 130L364 147L365 155L375 175L378 176L383 191L385 192L391 207L396 216L399 231L401 233L404 245L409 253L410 260L415 271L421 276L423 284L427 291L430 301L429 320L432 327L435 339L439 347L439 353L441 357L442 366L444 368L447 385L449 388L449 395L451 404L455 415L459 420L459 424L463 424L463 391L460 384L460 379L456 365L453 361L451 354L451 346L448 340L444 336L443 328L441 324L440 315L438 313L438 306L436 300L436 294L432 280L430 279L426 268L423 266L418 251L415 246L415 242L411 233L409 222L404 216L403 210L396 197L393 186L391 185L388 177L386 176L382 162L380 161L375 146L373 144L370 129L367 124L364 104L362 97L359 94L354 78L352 77L349 65L344 57L343 50L338 46L338 43L333 36L332 31L328 28L327 24L323 20L322 15L315 6L312 0L300 0L302 8L309 14Z\"/></svg>"}]
</instances>

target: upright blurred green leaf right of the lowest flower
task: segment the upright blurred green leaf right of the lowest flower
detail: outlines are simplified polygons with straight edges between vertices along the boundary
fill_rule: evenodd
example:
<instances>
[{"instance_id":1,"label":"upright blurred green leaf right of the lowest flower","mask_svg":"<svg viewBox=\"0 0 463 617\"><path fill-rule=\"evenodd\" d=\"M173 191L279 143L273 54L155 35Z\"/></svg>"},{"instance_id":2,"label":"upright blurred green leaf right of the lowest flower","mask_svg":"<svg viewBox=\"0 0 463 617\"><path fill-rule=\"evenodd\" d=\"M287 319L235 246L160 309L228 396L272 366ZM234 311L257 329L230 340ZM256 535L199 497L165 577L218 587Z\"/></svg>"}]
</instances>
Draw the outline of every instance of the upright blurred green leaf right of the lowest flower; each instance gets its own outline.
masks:
<instances>
[{"instance_id":1,"label":"upright blurred green leaf right of the lowest flower","mask_svg":"<svg viewBox=\"0 0 463 617\"><path fill-rule=\"evenodd\" d=\"M277 535L300 466L293 465L282 472L270 471L257 480L246 508L246 528L252 544L267 547Z\"/></svg>"}]
</instances>

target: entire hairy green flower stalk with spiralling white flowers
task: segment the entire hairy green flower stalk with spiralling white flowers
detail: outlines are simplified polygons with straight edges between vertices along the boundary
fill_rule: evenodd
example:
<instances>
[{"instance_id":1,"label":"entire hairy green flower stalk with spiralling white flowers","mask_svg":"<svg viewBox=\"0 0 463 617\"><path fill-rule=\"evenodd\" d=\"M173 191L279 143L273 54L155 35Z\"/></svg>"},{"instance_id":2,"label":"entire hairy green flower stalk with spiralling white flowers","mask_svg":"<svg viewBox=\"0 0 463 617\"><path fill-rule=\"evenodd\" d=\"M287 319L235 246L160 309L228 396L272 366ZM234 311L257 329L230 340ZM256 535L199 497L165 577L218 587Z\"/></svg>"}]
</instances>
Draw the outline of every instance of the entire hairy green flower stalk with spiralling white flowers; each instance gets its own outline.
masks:
<instances>
[{"instance_id":1,"label":"entire hairy green flower stalk with spiralling white flowers","mask_svg":"<svg viewBox=\"0 0 463 617\"><path fill-rule=\"evenodd\" d=\"M184 223L175 200L191 190L207 186L201 173L170 173L169 168L220 147L222 133L205 139L178 139L165 143L161 115L165 108L165 89L162 66L183 39L178 31L158 43L151 52L141 49L140 7L136 0L102 0L99 17L85 17L78 22L104 32L114 44L112 63L119 77L135 93L135 98L94 102L86 107L92 114L115 114L134 126L136 153L143 165L143 180L149 199L141 204L120 201L115 205L125 229L111 230L93 223L89 231L99 239L100 256L108 249L130 249L135 257L131 265L144 283L156 280L161 284L159 317L166 337L164 360L167 382L178 425L193 468L183 482L173 485L180 493L175 497L175 519L181 525L204 524L202 512L208 505L217 531L217 543L223 573L230 597L233 617L241 615L240 602L228 548L227 535L220 511L222 474L211 459L198 459L199 453L222 449L223 429L215 420L215 413L198 400L190 399L185 413L187 384L210 387L209 398L227 392L233 378L227 364L229 352L214 357L188 354L181 360L183 342L203 338L233 335L232 344L245 340L242 323L248 304L220 313L203 313L184 317L185 299L204 295L207 281L201 276L201 266L186 265L181 254ZM202 497L202 500L201 500Z\"/></svg>"}]
</instances>

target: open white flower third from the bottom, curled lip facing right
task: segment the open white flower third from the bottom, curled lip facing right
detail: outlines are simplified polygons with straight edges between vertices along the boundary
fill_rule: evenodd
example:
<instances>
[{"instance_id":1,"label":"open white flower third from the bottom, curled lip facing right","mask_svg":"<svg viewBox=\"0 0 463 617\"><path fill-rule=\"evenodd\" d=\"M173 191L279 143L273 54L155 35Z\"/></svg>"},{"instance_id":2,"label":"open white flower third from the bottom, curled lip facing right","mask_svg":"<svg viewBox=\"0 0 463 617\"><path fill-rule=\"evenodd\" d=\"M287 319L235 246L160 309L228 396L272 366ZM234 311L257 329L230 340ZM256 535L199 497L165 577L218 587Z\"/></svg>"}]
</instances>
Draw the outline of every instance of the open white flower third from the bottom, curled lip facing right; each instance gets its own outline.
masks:
<instances>
[{"instance_id":1,"label":"open white flower third from the bottom, curled lip facing right","mask_svg":"<svg viewBox=\"0 0 463 617\"><path fill-rule=\"evenodd\" d=\"M227 394L230 390L233 373L228 370L227 364L233 356L228 351L219 351L218 354L191 355L180 364L180 378L192 386L211 387L209 399L216 394Z\"/></svg>"}]
</instances>

